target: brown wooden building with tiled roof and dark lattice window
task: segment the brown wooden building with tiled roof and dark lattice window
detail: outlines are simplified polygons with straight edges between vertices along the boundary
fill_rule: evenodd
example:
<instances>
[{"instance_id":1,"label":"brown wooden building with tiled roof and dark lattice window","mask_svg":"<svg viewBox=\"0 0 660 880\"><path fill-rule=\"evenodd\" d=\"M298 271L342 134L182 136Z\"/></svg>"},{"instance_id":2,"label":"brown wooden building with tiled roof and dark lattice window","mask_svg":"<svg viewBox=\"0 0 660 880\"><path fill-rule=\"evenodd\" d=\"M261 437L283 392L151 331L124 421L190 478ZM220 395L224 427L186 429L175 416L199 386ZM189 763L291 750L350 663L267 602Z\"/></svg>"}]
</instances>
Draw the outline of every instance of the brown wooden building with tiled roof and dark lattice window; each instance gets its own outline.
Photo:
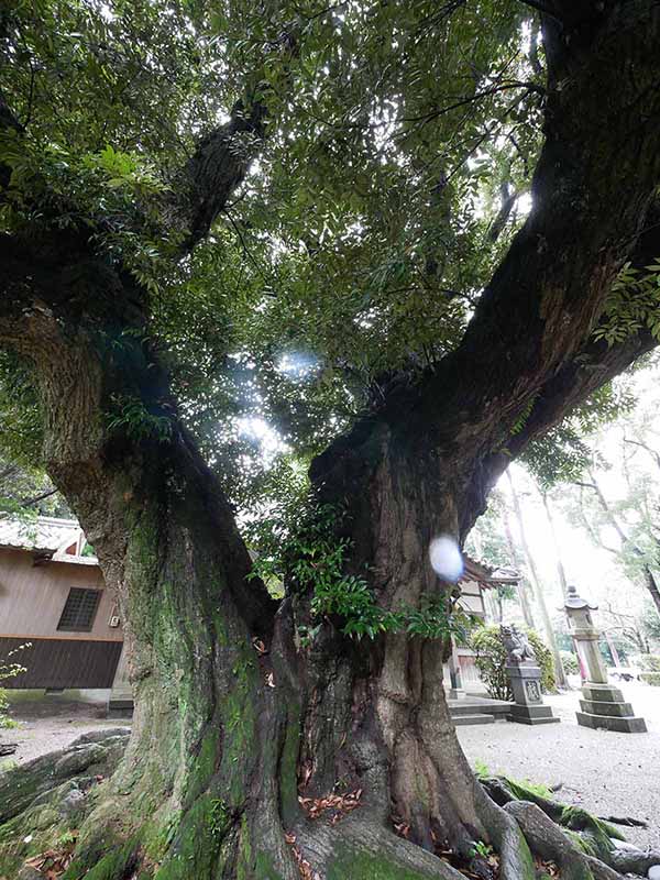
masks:
<instances>
[{"instance_id":1,"label":"brown wooden building with tiled roof and dark lattice window","mask_svg":"<svg viewBox=\"0 0 660 880\"><path fill-rule=\"evenodd\" d=\"M123 681L118 610L75 520L0 519L0 660L23 645L4 688L102 701Z\"/></svg>"}]
</instances>

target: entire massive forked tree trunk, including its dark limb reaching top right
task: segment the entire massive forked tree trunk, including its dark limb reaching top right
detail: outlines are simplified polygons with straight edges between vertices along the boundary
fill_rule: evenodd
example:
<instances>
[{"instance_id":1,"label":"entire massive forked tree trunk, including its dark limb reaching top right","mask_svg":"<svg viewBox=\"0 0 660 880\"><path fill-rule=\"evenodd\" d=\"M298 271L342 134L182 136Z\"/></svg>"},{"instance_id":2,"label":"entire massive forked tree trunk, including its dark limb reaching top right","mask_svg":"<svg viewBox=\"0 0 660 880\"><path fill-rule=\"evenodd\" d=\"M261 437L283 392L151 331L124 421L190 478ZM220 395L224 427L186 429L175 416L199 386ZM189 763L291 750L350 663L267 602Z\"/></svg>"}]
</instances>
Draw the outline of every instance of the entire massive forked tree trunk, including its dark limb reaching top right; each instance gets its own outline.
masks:
<instances>
[{"instance_id":1,"label":"entire massive forked tree trunk, including its dark limb reaching top right","mask_svg":"<svg viewBox=\"0 0 660 880\"><path fill-rule=\"evenodd\" d=\"M429 569L430 539L463 540L510 460L507 444L517 454L590 382L597 387L639 353L624 346L620 363L605 358L605 373L590 381L571 365L582 346L591 352L658 182L659 20L648 2L553 6L565 26L547 22L535 211L457 351L417 385L404 377L389 388L378 417L315 466L320 496L346 507L352 565L370 565L384 608L444 595ZM3 240L0 339L36 365L48 471L117 591L136 695L131 745L81 828L67 880L295 880L305 871L306 880L458 880L431 850L447 840L465 855L476 839L501 853L503 880L531 880L518 820L486 796L459 748L441 640L391 632L355 642L323 620L302 647L296 628L310 596L290 595L276 612L245 580L231 512L139 342L144 322L130 316L142 293L86 240L64 266L61 248L48 254L58 274L32 255L26 268L13 244ZM61 290L72 265L79 285ZM334 824L308 816L343 791L360 804L350 815L341 817L340 801ZM541 839L539 823L519 822ZM566 876L591 880L584 857L568 838L560 844L574 866ZM309 870L299 870L296 847Z\"/></svg>"}]
</instances>

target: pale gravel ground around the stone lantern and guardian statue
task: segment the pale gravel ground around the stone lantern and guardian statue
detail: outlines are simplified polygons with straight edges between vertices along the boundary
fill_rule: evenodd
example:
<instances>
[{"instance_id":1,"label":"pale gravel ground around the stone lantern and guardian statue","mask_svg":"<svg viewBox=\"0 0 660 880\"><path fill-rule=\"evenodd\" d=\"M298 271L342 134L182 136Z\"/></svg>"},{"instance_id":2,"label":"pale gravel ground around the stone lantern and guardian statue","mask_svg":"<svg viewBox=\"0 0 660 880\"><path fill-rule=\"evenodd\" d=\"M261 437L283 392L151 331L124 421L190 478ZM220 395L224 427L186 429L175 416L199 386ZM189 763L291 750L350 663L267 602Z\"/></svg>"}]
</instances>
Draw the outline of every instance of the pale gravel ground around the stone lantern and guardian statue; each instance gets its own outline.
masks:
<instances>
[{"instance_id":1,"label":"pale gravel ground around the stone lantern and guardian statue","mask_svg":"<svg viewBox=\"0 0 660 880\"><path fill-rule=\"evenodd\" d=\"M618 685L617 685L618 686ZM639 847L660 848L660 689L622 685L648 734L615 734L579 727L580 692L546 697L561 724L528 727L501 722L459 727L471 763L483 761L493 773L553 787L558 800L600 816L631 816L648 828L622 827Z\"/></svg>"}]
</instances>

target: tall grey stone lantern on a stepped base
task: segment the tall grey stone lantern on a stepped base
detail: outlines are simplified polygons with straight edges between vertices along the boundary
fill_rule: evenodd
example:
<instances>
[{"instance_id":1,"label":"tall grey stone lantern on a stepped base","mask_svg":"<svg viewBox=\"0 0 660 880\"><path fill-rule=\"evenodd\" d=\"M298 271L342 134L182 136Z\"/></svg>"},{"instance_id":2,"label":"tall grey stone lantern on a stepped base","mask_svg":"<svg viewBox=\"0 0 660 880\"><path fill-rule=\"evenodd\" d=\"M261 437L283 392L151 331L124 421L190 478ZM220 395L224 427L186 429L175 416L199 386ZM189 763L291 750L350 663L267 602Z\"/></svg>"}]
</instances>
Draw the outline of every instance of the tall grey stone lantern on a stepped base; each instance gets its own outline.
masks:
<instances>
[{"instance_id":1,"label":"tall grey stone lantern on a stepped base","mask_svg":"<svg viewBox=\"0 0 660 880\"><path fill-rule=\"evenodd\" d=\"M647 729L645 719L635 717L632 706L624 702L620 690L608 684L607 670L598 650L601 634L592 617L592 612L596 609L597 605L590 605L578 595L575 586L569 586L564 612L586 675L582 685L584 698L580 701L582 712L575 713L578 724L625 734L644 734Z\"/></svg>"}]
</instances>

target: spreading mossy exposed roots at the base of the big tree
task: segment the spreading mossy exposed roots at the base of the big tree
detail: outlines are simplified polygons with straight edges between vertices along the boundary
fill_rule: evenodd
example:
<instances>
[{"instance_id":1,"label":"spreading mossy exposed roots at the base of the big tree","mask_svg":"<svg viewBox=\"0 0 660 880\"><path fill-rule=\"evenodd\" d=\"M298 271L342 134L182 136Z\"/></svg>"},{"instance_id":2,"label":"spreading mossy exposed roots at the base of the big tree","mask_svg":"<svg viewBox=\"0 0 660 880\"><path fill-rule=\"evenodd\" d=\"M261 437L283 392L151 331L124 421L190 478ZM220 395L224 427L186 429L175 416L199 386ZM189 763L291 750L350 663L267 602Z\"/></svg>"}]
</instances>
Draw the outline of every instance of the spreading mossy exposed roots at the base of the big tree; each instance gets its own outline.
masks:
<instances>
[{"instance_id":1,"label":"spreading mossy exposed roots at the base of the big tree","mask_svg":"<svg viewBox=\"0 0 660 880\"><path fill-rule=\"evenodd\" d=\"M92 810L94 816L103 809L108 815L117 815L117 798L106 792L102 783L113 772L127 740L124 730L89 734L67 749L0 776L0 878L35 877L34 868L21 866L30 859L34 865L34 857L51 848L55 854L58 847L73 848L67 833L78 828ZM561 880L622 880L625 873L646 876L649 867L660 865L660 853L615 848L612 836L620 834L581 809L542 798L506 779L487 779L476 790L476 810L498 854L501 880L535 880L532 854L554 862ZM242 854L250 849L250 817L245 811L226 811L222 801L202 792L177 817L172 836L163 839L162 860L145 858L153 834L148 821L129 836L120 831L114 837L112 823L99 823L96 833L81 838L64 877L123 880L139 872L163 880L234 880L239 876L235 866L241 865L240 876L250 880L465 877L438 855L395 835L367 801L362 804L356 798L350 811L340 812L334 818L300 813L286 835L278 821L264 816L277 839L264 847L265 855L256 861L242 861ZM89 821L85 827L88 825ZM479 861L464 867L479 871ZM483 867L483 875L471 876L487 877L485 862Z\"/></svg>"}]
</instances>

